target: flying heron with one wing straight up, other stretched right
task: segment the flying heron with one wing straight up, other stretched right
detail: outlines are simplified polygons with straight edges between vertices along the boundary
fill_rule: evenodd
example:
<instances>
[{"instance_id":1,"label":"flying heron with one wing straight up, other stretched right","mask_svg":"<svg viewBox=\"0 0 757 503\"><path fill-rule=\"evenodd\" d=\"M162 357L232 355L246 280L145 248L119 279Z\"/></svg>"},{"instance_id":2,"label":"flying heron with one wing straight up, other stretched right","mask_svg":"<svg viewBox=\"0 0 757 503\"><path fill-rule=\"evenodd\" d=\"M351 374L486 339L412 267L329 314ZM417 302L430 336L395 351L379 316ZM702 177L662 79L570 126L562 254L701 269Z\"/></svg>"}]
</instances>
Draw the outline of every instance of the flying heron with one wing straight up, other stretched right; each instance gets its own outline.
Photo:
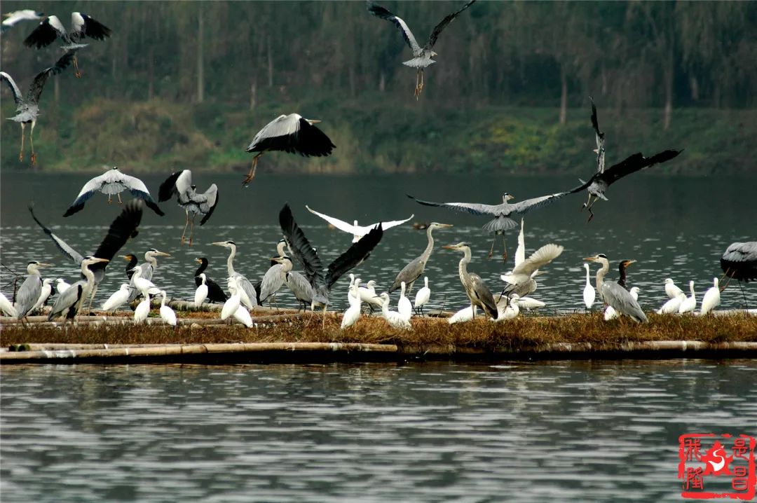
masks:
<instances>
[{"instance_id":1,"label":"flying heron with one wing straight up, other stretched right","mask_svg":"<svg viewBox=\"0 0 757 503\"><path fill-rule=\"evenodd\" d=\"M597 150L595 150L597 153L597 172L594 173L588 182L578 179L578 181L581 182L581 185L570 191L570 193L573 193L583 191L585 188L589 192L588 200L581 206L582 210L586 208L589 211L588 222L591 222L591 219L594 218L591 206L593 206L593 204L599 199L608 200L605 196L605 191L610 185L624 176L631 175L631 173L654 166L655 164L665 163L668 160L677 157L678 154L681 154L682 152L666 150L659 154L655 154L652 157L644 157L640 152L637 152L636 154L621 160L620 163L613 164L605 169L605 134L604 132L600 132L600 126L597 120L597 107L594 105L593 100L591 101L591 125L594 129L594 137L597 140Z\"/></svg>"}]
</instances>

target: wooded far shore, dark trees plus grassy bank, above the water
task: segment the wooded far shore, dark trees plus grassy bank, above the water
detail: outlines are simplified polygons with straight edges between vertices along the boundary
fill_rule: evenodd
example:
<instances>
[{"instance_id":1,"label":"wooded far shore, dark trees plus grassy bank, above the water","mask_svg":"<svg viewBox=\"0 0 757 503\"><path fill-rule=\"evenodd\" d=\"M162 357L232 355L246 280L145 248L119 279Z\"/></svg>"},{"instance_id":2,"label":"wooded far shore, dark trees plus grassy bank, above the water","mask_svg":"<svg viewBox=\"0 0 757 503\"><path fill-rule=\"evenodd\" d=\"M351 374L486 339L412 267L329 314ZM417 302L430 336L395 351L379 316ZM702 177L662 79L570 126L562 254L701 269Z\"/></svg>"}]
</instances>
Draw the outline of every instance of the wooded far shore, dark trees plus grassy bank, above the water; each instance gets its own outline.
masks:
<instances>
[{"instance_id":1,"label":"wooded far shore, dark trees plus grassy bank, above the water","mask_svg":"<svg viewBox=\"0 0 757 503\"><path fill-rule=\"evenodd\" d=\"M462 2L379 2L423 44ZM2 169L246 170L245 147L281 113L319 119L332 157L263 157L275 172L590 174L592 96L608 166L684 148L656 169L755 171L757 2L485 2L415 70L396 26L365 2L2 2L65 26L82 11L113 29L48 82L35 130L39 164L18 160L2 121ZM60 55L2 34L2 70L23 92ZM14 103L2 88L2 116ZM27 129L28 131L28 129ZM28 141L28 140L27 140ZM28 145L28 144L27 144Z\"/></svg>"}]
</instances>

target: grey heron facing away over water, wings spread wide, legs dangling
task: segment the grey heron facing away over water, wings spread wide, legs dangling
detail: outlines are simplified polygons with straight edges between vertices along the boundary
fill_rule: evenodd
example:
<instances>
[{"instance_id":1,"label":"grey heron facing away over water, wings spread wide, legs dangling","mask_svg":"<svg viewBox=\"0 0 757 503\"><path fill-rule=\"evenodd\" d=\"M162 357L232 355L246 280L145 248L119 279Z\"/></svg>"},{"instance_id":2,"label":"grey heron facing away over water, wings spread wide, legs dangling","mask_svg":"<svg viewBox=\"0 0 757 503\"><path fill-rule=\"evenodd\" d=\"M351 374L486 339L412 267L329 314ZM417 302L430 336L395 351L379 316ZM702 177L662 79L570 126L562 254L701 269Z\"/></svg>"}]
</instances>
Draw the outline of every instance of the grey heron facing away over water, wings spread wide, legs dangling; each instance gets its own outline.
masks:
<instances>
[{"instance_id":1,"label":"grey heron facing away over water, wings spread wide, legs dangling","mask_svg":"<svg viewBox=\"0 0 757 503\"><path fill-rule=\"evenodd\" d=\"M501 204L483 204L483 203L435 203L433 201L420 200L416 197L407 194L407 197L416 201L416 203L423 204L425 206L438 206L447 210L459 211L462 213L471 213L472 215L494 216L484 225L485 231L494 232L494 241L497 240L497 235L502 236L502 244L504 252L502 254L503 262L507 260L507 245L505 243L505 232L510 229L516 228L518 223L511 217L516 215L525 215L531 210L546 206L553 203L561 197L568 194L577 192L580 189L573 189L572 191L556 192L555 194L548 194L546 196L532 197L531 199L522 200L519 203L510 204L507 201L514 198L511 194L504 193L502 196ZM489 250L489 257L491 258L494 253L494 241L491 242L491 250Z\"/></svg>"}]
</instances>

